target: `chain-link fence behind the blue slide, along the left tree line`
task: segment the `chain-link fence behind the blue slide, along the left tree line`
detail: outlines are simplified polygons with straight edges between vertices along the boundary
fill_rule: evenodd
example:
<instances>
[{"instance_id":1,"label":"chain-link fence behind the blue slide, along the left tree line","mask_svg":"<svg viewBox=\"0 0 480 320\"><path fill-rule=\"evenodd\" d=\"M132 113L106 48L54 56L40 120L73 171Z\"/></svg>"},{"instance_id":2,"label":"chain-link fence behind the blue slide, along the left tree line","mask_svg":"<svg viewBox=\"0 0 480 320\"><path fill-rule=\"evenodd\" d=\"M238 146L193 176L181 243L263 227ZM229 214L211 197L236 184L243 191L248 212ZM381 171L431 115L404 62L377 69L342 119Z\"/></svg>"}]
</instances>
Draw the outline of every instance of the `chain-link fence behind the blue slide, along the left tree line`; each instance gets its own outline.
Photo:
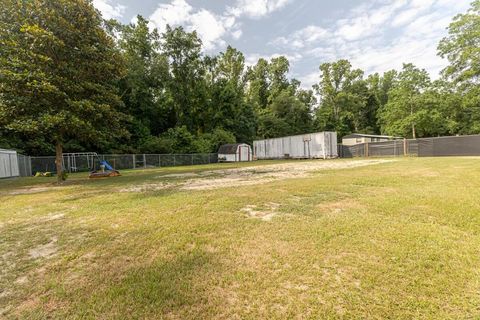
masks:
<instances>
[{"instance_id":1,"label":"chain-link fence behind the blue slide, along the left tree line","mask_svg":"<svg viewBox=\"0 0 480 320\"><path fill-rule=\"evenodd\" d=\"M56 172L55 157L30 157L30 172ZM99 160L106 160L117 170L188 166L218 162L216 153L198 154L99 154L64 155L63 167L67 172L90 171L99 168Z\"/></svg>"}]
</instances>

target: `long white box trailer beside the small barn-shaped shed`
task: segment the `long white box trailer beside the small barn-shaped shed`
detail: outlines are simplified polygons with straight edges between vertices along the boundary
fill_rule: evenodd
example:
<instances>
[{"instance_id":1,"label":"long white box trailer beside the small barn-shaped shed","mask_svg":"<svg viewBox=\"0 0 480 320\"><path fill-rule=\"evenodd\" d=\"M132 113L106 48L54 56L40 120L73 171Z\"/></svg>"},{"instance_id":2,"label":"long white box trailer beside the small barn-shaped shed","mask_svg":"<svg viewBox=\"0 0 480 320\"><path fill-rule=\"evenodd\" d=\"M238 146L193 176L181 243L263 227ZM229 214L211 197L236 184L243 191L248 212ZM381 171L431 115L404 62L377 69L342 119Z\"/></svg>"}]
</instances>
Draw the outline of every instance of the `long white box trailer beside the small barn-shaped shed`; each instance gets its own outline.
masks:
<instances>
[{"instance_id":1,"label":"long white box trailer beside the small barn-shaped shed","mask_svg":"<svg viewBox=\"0 0 480 320\"><path fill-rule=\"evenodd\" d=\"M337 133L316 132L253 142L256 159L330 159L338 157Z\"/></svg>"}]
</instances>

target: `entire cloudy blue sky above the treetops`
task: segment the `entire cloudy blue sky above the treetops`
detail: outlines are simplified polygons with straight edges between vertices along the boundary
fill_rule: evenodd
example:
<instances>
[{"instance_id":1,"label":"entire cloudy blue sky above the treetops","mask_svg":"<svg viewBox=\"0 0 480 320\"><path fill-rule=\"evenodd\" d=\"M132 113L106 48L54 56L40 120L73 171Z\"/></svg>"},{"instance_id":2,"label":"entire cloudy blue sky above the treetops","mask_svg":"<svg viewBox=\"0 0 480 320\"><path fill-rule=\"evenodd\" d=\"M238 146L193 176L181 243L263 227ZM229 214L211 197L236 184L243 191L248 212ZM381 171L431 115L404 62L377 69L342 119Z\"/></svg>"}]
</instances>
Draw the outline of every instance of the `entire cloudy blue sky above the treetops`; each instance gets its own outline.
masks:
<instances>
[{"instance_id":1,"label":"entire cloudy blue sky above the treetops","mask_svg":"<svg viewBox=\"0 0 480 320\"><path fill-rule=\"evenodd\" d=\"M349 59L366 74L425 68L433 78L446 61L436 55L452 18L469 0L93 0L105 18L123 23L137 14L160 31L166 24L197 30L205 54L230 44L247 64L285 55L290 76L310 87L323 62Z\"/></svg>"}]
</instances>

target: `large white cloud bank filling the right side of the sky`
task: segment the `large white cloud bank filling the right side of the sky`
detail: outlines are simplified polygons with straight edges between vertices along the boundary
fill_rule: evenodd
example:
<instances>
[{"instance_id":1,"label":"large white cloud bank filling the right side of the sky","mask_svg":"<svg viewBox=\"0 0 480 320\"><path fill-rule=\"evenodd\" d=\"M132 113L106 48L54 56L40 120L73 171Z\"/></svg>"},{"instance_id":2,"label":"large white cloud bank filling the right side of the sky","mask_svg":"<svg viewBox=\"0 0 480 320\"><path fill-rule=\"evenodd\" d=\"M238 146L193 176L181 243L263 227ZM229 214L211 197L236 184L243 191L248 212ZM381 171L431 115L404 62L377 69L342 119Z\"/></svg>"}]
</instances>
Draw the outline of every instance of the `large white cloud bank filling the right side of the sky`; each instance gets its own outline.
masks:
<instances>
[{"instance_id":1,"label":"large white cloud bank filling the right side of the sky","mask_svg":"<svg viewBox=\"0 0 480 320\"><path fill-rule=\"evenodd\" d=\"M325 29L307 27L320 30L321 36L310 38L312 41L306 40L308 29L303 28L271 44L282 47L288 55L301 50L299 63L304 66L308 62L310 70L338 59L349 59L367 74L400 69L403 63L411 62L435 78L446 64L437 56L438 42L446 35L453 16L467 8L467 2L458 0L376 0L357 6ZM296 74L302 87L318 82L319 71Z\"/></svg>"}]
</instances>

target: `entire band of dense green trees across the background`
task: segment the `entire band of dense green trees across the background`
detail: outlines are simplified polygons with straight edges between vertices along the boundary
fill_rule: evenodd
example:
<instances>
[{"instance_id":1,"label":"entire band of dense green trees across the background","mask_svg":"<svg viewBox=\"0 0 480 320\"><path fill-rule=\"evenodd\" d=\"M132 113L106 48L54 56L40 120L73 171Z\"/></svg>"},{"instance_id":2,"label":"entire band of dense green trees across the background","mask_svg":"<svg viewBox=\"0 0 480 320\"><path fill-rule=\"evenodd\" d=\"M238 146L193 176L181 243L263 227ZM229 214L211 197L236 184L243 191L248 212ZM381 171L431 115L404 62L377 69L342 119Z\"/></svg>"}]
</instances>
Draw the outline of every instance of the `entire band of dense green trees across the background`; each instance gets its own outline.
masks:
<instances>
[{"instance_id":1,"label":"entire band of dense green trees across the background","mask_svg":"<svg viewBox=\"0 0 480 320\"><path fill-rule=\"evenodd\" d=\"M195 32L104 21L87 0L0 8L0 146L25 153L213 152L222 143L334 130L425 137L480 133L480 1L454 18L439 80L412 64L365 76L322 63L311 90L283 57L246 66L205 55Z\"/></svg>"}]
</instances>

